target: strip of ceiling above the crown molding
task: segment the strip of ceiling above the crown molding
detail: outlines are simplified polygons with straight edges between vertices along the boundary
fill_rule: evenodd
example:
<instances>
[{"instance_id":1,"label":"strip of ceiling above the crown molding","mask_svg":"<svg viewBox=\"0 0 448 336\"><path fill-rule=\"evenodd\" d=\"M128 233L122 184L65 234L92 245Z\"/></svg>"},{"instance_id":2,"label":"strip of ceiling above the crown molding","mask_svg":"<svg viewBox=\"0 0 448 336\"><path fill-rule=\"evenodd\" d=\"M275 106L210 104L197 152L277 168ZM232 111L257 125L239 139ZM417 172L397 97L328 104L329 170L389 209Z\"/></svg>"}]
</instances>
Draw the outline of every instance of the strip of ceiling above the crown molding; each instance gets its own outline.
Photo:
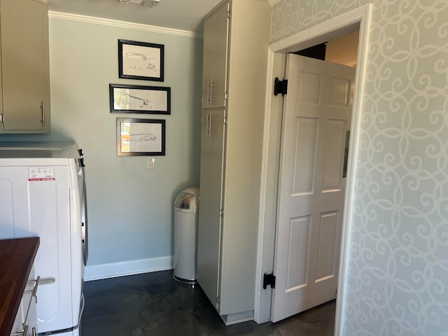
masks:
<instances>
[{"instance_id":1,"label":"strip of ceiling above the crown molding","mask_svg":"<svg viewBox=\"0 0 448 336\"><path fill-rule=\"evenodd\" d=\"M202 18L221 0L160 0L150 8L120 0L47 0L48 10L202 32Z\"/></svg>"}]
</instances>

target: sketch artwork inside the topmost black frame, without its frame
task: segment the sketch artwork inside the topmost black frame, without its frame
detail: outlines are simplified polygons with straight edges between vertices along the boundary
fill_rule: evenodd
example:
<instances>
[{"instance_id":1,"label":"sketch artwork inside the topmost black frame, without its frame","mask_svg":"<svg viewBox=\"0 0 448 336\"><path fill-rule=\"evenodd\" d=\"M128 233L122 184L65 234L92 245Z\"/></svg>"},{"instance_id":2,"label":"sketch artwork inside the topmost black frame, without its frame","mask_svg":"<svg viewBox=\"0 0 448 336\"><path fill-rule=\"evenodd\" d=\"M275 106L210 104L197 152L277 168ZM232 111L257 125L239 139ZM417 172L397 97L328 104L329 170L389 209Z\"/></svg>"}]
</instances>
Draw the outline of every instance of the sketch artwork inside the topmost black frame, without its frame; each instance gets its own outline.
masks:
<instances>
[{"instance_id":1,"label":"sketch artwork inside the topmost black frame, without its frame","mask_svg":"<svg viewBox=\"0 0 448 336\"><path fill-rule=\"evenodd\" d=\"M129 76L160 77L160 48L123 44L123 73Z\"/></svg>"}]
</instances>

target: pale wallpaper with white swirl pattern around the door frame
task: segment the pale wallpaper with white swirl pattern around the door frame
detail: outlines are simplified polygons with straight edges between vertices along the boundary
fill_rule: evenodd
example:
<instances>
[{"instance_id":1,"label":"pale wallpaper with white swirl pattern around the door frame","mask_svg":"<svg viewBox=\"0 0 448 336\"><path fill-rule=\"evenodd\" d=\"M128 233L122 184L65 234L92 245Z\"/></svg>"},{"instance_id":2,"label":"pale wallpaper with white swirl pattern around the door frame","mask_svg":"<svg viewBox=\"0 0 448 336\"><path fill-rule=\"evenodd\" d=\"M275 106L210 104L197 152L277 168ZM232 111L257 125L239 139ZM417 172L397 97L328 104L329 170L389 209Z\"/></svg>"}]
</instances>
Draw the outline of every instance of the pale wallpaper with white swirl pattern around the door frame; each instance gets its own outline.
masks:
<instances>
[{"instance_id":1,"label":"pale wallpaper with white swirl pattern around the door frame","mask_svg":"<svg viewBox=\"0 0 448 336\"><path fill-rule=\"evenodd\" d=\"M367 3L283 0L272 41ZM343 335L448 335L448 1L375 0Z\"/></svg>"}]
</instances>

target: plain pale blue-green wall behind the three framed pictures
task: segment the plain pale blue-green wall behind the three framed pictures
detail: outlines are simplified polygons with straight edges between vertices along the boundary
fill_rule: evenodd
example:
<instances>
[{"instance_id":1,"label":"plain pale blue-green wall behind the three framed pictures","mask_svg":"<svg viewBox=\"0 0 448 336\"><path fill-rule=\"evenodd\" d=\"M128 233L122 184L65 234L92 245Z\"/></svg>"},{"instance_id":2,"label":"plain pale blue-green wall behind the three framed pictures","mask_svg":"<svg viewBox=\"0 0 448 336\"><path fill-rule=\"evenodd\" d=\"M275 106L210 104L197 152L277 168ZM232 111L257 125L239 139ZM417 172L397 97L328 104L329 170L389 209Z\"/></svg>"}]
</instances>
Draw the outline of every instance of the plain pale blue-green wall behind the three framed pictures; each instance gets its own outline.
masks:
<instances>
[{"instance_id":1,"label":"plain pale blue-green wall behind the three framed pictures","mask_svg":"<svg viewBox=\"0 0 448 336\"><path fill-rule=\"evenodd\" d=\"M118 38L165 45L165 81L119 79ZM199 186L201 78L201 38L50 18L52 133L0 141L71 139L84 149L89 266L173 255L174 199ZM171 87L171 116L109 113L109 83ZM155 169L144 156L117 157L119 117L166 120Z\"/></svg>"}]
</instances>

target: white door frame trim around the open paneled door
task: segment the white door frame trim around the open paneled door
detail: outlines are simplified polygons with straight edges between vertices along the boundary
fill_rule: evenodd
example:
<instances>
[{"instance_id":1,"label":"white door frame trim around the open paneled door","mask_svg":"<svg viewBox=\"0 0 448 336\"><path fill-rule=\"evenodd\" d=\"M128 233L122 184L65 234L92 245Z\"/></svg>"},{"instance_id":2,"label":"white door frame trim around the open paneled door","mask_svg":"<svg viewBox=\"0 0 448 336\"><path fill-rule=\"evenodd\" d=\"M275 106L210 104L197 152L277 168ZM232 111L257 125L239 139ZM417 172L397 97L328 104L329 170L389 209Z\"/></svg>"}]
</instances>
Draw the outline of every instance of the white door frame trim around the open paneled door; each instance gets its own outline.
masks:
<instances>
[{"instance_id":1,"label":"white door frame trim around the open paneled door","mask_svg":"<svg viewBox=\"0 0 448 336\"><path fill-rule=\"evenodd\" d=\"M351 119L350 152L347 165L344 218L342 222L341 255L339 258L338 283L346 283L347 248L349 246L350 228L353 211L354 182L356 161L358 158L358 142L360 136L361 111L365 89L367 53L372 18L372 3L350 10L335 18L322 22L314 27L300 31L269 45L267 64L267 85L265 97L265 128L262 153L262 176L260 181L260 213L258 223L258 253L255 281L254 320L257 323L270 321L272 290L262 288L262 274L274 269L274 243L277 225L277 190L279 176L279 150L281 138L281 117L283 98L274 97L274 78L283 78L286 68L286 53L302 50L312 45L329 41L332 38L349 34L359 29L358 55L356 64L356 87L353 92L353 113ZM280 120L280 122L279 122ZM272 181L276 188L274 188ZM337 291L335 335L341 334L342 309L344 307L345 288Z\"/></svg>"}]
</instances>

